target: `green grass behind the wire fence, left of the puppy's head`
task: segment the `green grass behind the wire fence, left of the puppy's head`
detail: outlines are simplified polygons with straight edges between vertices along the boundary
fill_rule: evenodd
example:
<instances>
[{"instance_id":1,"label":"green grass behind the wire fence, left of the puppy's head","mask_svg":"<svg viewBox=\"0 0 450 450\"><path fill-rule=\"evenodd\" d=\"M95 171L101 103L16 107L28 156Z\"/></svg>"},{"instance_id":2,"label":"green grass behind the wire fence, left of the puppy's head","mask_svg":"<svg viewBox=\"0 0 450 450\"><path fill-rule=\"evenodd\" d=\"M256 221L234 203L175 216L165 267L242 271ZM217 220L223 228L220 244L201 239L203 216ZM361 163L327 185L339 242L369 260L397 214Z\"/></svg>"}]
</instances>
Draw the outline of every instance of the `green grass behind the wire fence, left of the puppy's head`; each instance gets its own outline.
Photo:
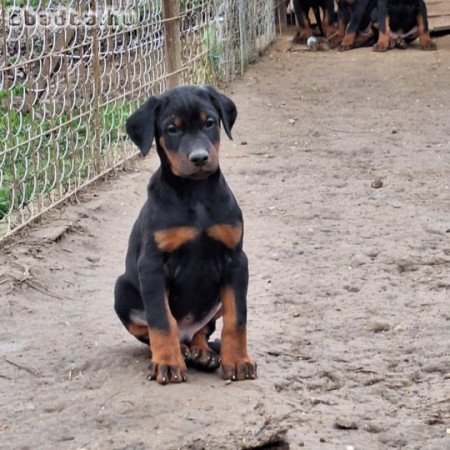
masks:
<instances>
[{"instance_id":1,"label":"green grass behind the wire fence, left of the puppy's head","mask_svg":"<svg viewBox=\"0 0 450 450\"><path fill-rule=\"evenodd\" d=\"M63 113L49 120L10 109L12 91L0 90L0 219L52 192L64 193L95 173L124 138L132 105L112 103L71 120ZM15 94L18 94L16 92ZM22 95L23 92L22 92ZM98 127L98 129L97 129Z\"/></svg>"}]
</instances>

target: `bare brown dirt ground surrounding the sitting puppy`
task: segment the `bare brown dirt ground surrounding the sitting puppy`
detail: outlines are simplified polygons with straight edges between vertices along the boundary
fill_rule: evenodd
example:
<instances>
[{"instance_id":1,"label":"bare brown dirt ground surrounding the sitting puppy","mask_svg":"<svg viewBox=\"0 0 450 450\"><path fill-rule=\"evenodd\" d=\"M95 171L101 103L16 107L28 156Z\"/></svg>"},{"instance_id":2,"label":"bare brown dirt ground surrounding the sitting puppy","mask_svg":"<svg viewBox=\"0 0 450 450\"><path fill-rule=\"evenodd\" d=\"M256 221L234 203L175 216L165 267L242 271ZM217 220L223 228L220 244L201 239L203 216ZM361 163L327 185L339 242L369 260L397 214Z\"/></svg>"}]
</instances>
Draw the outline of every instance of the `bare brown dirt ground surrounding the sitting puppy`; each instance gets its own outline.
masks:
<instances>
[{"instance_id":1,"label":"bare brown dirt ground surrounding the sitting puppy","mask_svg":"<svg viewBox=\"0 0 450 450\"><path fill-rule=\"evenodd\" d=\"M226 89L258 379L149 382L115 316L152 152L2 249L0 448L450 448L450 37L289 39Z\"/></svg>"}]
</instances>

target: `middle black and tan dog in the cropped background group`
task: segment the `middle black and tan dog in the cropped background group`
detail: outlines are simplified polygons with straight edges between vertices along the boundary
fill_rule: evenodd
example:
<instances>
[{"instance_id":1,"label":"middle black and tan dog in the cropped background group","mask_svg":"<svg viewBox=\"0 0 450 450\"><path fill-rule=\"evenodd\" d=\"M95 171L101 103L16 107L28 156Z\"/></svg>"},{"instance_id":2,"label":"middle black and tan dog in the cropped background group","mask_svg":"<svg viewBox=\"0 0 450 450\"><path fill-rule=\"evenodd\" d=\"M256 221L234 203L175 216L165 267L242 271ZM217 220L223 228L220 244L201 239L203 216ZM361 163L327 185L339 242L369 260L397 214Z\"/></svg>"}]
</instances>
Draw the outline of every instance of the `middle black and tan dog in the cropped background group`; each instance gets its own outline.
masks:
<instances>
[{"instance_id":1,"label":"middle black and tan dog in the cropped background group","mask_svg":"<svg viewBox=\"0 0 450 450\"><path fill-rule=\"evenodd\" d=\"M345 51L373 45L377 20L377 0L339 0L338 31L328 40L329 46Z\"/></svg>"}]
</instances>

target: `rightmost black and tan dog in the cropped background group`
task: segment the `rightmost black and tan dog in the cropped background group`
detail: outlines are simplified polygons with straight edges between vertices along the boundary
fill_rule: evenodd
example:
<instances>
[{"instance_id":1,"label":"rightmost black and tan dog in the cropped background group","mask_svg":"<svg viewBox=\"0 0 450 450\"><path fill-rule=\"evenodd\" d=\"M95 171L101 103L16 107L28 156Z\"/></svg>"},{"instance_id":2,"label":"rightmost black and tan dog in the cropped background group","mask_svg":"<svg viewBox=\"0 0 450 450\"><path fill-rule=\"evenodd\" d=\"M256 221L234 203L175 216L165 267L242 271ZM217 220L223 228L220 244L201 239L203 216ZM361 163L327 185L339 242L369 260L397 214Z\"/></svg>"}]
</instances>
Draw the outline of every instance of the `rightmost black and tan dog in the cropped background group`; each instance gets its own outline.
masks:
<instances>
[{"instance_id":1,"label":"rightmost black and tan dog in the cropped background group","mask_svg":"<svg viewBox=\"0 0 450 450\"><path fill-rule=\"evenodd\" d=\"M374 51L385 52L394 46L404 49L417 38L421 49L436 50L423 0L378 0L378 18L380 33Z\"/></svg>"}]
</instances>

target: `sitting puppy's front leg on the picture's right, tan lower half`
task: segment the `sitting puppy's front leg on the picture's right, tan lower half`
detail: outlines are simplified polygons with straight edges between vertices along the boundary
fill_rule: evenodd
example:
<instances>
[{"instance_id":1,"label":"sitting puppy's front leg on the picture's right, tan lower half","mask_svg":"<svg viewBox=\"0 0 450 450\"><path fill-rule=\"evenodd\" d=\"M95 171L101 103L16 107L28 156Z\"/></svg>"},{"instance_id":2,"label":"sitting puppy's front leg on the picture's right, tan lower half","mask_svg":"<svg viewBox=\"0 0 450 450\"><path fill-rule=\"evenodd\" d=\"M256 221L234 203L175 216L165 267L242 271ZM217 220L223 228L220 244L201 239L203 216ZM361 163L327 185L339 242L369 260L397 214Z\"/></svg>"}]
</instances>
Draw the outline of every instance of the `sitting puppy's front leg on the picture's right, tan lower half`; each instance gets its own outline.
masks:
<instances>
[{"instance_id":1,"label":"sitting puppy's front leg on the picture's right, tan lower half","mask_svg":"<svg viewBox=\"0 0 450 450\"><path fill-rule=\"evenodd\" d=\"M241 253L232 263L221 289L223 328L221 364L225 380L256 378L256 364L247 350L247 257Z\"/></svg>"}]
</instances>

